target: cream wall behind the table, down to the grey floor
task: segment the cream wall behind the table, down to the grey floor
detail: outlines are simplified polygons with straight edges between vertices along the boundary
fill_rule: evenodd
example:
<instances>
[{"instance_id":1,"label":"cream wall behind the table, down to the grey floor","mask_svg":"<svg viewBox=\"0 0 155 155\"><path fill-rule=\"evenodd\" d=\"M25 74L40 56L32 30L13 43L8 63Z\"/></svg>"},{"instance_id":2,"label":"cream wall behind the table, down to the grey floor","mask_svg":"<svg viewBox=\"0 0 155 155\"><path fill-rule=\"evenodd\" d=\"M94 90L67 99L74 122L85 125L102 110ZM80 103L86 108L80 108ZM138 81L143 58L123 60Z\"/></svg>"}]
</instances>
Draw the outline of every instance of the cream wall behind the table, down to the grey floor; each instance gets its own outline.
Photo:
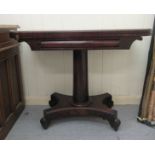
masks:
<instances>
[{"instance_id":1,"label":"cream wall behind the table, down to the grey floor","mask_svg":"<svg viewBox=\"0 0 155 155\"><path fill-rule=\"evenodd\" d=\"M19 30L152 28L153 15L0 15L0 24ZM89 93L110 92L115 104L139 104L150 37L130 50L89 51ZM72 94L72 51L31 51L21 43L27 104L47 104L50 94Z\"/></svg>"}]
</instances>

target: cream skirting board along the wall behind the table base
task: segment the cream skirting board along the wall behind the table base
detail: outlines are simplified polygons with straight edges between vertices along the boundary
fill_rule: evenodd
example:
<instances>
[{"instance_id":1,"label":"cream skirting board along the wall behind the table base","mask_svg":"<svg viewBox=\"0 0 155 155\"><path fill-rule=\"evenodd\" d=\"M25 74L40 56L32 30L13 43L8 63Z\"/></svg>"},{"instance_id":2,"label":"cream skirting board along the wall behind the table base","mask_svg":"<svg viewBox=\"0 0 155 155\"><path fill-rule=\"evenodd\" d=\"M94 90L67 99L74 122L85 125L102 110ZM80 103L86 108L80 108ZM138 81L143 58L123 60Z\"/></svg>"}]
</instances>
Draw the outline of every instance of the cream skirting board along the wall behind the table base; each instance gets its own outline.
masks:
<instances>
[{"instance_id":1,"label":"cream skirting board along the wall behind the table base","mask_svg":"<svg viewBox=\"0 0 155 155\"><path fill-rule=\"evenodd\" d=\"M139 104L140 96L113 96L115 105ZM34 97L27 96L25 98L26 105L47 105L50 100L49 97Z\"/></svg>"}]
</instances>

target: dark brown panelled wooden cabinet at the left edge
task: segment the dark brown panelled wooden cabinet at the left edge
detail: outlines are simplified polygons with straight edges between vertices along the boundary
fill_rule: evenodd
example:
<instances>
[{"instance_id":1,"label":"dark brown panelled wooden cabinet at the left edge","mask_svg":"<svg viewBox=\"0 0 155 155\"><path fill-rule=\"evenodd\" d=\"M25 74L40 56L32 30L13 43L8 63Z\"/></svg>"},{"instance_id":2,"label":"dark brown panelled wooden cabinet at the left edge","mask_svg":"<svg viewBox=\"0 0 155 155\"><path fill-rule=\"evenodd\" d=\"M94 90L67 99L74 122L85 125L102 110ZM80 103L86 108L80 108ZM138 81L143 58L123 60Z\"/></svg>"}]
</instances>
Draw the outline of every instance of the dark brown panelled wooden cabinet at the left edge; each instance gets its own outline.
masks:
<instances>
[{"instance_id":1,"label":"dark brown panelled wooden cabinet at the left edge","mask_svg":"<svg viewBox=\"0 0 155 155\"><path fill-rule=\"evenodd\" d=\"M24 109L18 42L10 38L16 26L0 27L0 139L4 139Z\"/></svg>"}]
</instances>

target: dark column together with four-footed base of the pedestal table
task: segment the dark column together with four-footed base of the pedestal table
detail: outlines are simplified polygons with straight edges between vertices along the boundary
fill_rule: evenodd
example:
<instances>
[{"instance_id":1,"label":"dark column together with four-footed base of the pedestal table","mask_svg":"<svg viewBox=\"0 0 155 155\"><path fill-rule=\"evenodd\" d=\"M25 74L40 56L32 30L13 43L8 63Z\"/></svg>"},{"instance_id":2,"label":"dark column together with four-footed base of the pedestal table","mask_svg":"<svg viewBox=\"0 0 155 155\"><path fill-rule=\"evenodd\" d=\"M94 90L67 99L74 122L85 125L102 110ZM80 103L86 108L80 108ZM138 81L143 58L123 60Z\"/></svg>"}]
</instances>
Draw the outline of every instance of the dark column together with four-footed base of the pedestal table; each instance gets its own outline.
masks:
<instances>
[{"instance_id":1,"label":"dark column together with four-footed base of the pedestal table","mask_svg":"<svg viewBox=\"0 0 155 155\"><path fill-rule=\"evenodd\" d=\"M118 130L120 120L117 111L112 110L112 96L108 93L89 96L88 94L88 58L87 50L73 51L73 96L60 93L51 95L49 105L40 120L47 128L51 120L70 116L98 116L109 121L114 130Z\"/></svg>"}]
</instances>

